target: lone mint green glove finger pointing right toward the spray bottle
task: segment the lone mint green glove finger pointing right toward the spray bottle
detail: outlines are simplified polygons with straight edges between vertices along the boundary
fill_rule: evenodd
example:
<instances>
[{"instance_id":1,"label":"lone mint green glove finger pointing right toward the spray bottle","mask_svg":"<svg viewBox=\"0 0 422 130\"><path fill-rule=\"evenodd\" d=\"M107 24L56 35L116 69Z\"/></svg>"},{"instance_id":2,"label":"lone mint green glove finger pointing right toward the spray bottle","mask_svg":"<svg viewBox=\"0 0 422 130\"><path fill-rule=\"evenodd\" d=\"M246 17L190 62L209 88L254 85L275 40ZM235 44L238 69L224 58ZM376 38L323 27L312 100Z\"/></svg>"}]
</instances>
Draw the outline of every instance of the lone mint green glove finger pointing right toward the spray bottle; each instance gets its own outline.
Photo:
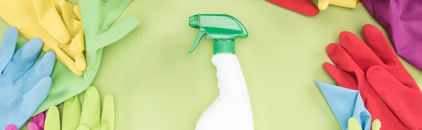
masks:
<instances>
[{"instance_id":1,"label":"lone mint green glove finger pointing right toward the spray bottle","mask_svg":"<svg viewBox=\"0 0 422 130\"><path fill-rule=\"evenodd\" d=\"M138 26L139 20L136 17L129 17L126 20L120 22L119 24L110 27L106 32L98 36L98 40L94 45L90 45L87 49L91 52L95 52L95 50L98 50L100 48L104 48L107 45L110 45L111 43L115 43L119 39L123 38L127 34L129 34L130 31L136 28ZM87 44L88 46L88 44Z\"/></svg>"}]
</instances>

